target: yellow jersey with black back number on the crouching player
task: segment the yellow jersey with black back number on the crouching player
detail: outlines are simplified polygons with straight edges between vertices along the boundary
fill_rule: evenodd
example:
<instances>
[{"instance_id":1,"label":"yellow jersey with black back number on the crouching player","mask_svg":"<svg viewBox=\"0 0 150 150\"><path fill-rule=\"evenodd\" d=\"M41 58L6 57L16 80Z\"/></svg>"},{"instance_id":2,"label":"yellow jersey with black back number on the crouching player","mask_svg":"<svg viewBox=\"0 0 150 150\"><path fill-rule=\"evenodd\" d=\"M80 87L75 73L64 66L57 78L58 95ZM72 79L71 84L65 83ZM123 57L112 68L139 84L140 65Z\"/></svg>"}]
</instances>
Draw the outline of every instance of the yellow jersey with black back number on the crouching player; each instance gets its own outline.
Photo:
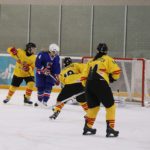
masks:
<instances>
[{"instance_id":1,"label":"yellow jersey with black back number on the crouching player","mask_svg":"<svg viewBox=\"0 0 150 150\"><path fill-rule=\"evenodd\" d=\"M60 82L63 85L81 83L81 74L85 66L86 64L82 63L72 63L65 67L59 75Z\"/></svg>"}]
</instances>

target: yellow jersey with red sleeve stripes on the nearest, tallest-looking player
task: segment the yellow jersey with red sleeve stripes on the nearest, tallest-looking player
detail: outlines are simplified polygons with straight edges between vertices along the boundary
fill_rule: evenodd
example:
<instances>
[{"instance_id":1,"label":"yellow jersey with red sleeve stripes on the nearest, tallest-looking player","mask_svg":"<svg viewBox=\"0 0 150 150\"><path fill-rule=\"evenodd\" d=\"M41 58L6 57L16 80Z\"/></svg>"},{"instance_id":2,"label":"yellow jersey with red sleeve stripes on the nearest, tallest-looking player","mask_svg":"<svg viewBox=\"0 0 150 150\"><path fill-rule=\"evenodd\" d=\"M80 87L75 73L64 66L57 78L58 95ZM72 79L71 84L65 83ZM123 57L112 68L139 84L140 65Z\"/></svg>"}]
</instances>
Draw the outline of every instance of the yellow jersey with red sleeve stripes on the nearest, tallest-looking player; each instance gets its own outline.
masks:
<instances>
[{"instance_id":1,"label":"yellow jersey with red sleeve stripes on the nearest, tallest-looking player","mask_svg":"<svg viewBox=\"0 0 150 150\"><path fill-rule=\"evenodd\" d=\"M84 69L81 80L83 85L86 83L86 79L89 74L90 68L93 69L97 65L97 74L102 76L107 83L109 84L109 74L112 75L113 79L117 80L120 77L120 67L118 64L115 62L115 60L108 56L108 55L103 55L102 57L98 58L97 60L93 61L90 60L87 62L87 67Z\"/></svg>"}]
</instances>

